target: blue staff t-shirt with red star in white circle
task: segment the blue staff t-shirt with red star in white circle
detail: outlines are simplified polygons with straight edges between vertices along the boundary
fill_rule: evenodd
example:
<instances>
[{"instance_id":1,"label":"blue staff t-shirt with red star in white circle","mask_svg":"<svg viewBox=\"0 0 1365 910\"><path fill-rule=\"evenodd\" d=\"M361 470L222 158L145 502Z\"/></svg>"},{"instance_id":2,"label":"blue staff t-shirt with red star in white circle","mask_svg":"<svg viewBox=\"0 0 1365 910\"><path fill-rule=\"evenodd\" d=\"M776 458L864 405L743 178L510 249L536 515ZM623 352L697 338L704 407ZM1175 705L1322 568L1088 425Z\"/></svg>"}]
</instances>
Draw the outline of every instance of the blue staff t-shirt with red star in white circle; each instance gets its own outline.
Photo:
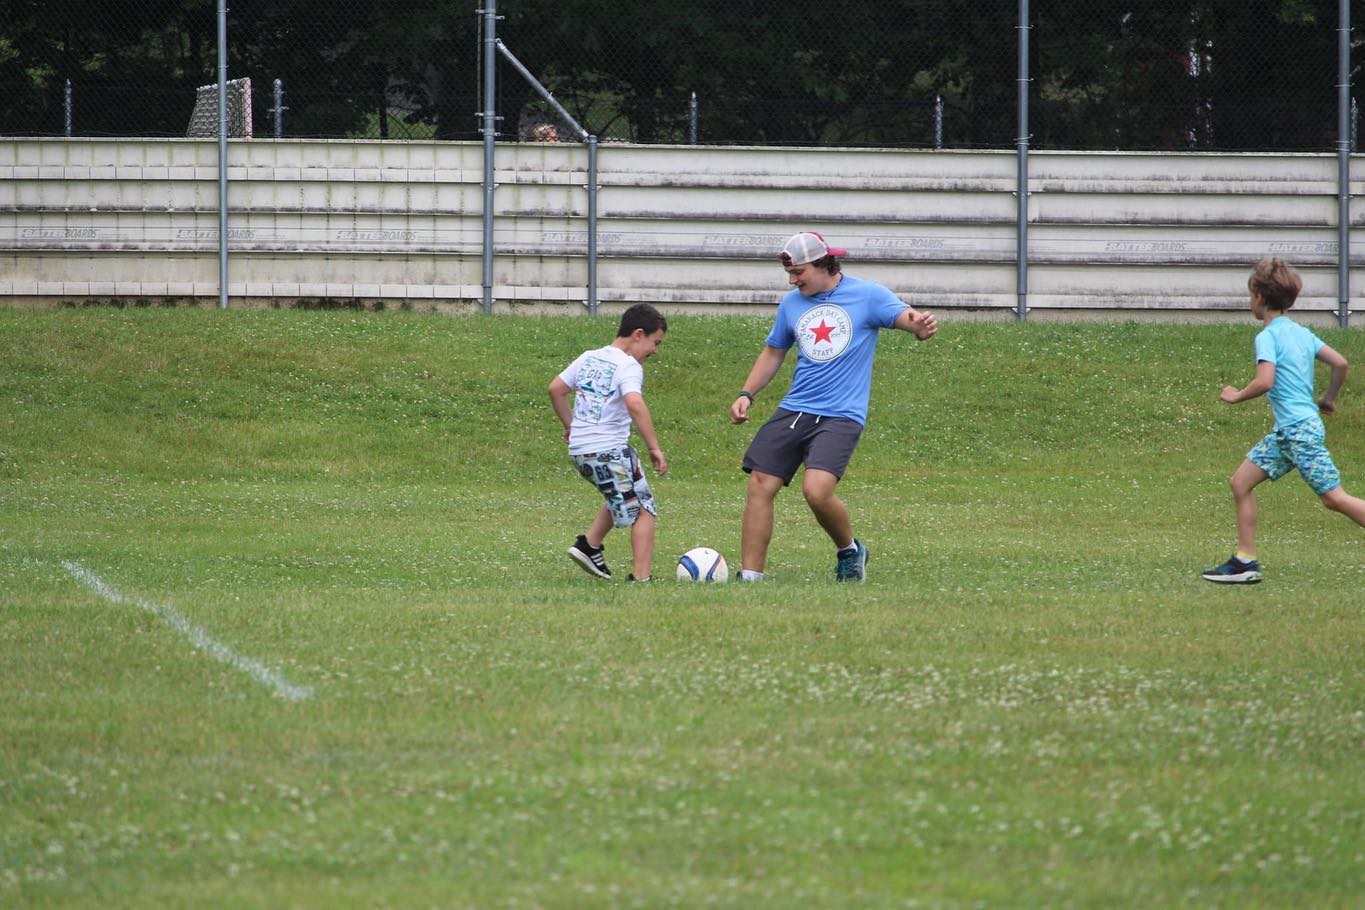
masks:
<instances>
[{"instance_id":1,"label":"blue staff t-shirt with red star in white circle","mask_svg":"<svg viewBox=\"0 0 1365 910\"><path fill-rule=\"evenodd\" d=\"M782 351L797 348L792 387L781 407L865 424L876 334L906 308L882 285L849 276L814 297L788 291L766 341Z\"/></svg>"}]
</instances>

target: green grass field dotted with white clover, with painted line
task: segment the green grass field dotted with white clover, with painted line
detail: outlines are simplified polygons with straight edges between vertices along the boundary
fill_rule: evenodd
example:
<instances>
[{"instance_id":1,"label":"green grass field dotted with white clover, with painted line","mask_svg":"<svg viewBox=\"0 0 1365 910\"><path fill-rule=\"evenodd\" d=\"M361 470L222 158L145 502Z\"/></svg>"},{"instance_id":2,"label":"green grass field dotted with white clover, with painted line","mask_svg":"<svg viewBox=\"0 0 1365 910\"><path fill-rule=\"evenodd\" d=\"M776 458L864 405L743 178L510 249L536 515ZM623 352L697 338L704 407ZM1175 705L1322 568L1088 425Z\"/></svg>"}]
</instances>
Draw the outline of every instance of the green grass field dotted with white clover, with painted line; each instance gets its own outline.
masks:
<instances>
[{"instance_id":1,"label":"green grass field dotted with white clover, with painted line","mask_svg":"<svg viewBox=\"0 0 1365 910\"><path fill-rule=\"evenodd\" d=\"M767 330L670 322L662 576ZM0 310L0 906L1365 906L1365 531L1286 478L1198 578L1254 332L886 336L865 585L789 490L770 583L629 587L545 394L612 319Z\"/></svg>"}]
</instances>

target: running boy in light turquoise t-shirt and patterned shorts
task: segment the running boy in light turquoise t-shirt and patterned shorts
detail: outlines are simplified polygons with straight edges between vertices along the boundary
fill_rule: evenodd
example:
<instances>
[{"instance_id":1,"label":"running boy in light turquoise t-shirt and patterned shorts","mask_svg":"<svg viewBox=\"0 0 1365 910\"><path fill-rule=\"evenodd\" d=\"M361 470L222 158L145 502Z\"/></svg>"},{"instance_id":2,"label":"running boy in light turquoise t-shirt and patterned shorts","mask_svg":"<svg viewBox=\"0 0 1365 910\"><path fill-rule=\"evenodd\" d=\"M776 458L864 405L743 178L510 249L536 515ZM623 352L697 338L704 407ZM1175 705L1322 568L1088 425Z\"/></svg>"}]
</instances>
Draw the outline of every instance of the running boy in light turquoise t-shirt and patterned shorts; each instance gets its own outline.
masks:
<instances>
[{"instance_id":1,"label":"running boy in light turquoise t-shirt and patterned shorts","mask_svg":"<svg viewBox=\"0 0 1365 910\"><path fill-rule=\"evenodd\" d=\"M1246 281L1252 312L1265 323L1256 336L1256 378L1245 389L1224 386L1219 396L1237 404L1267 396L1275 427L1252 446L1228 483L1237 503L1237 553L1204 573L1220 584L1254 584L1261 580L1256 558L1256 495L1263 480L1279 480L1293 468L1332 512L1365 525L1365 499L1342 488L1342 475L1327 452L1323 415L1336 411L1336 393L1346 381L1346 357L1321 338L1284 315L1294 306L1304 281L1283 259L1261 259ZM1331 368L1327 392L1314 404L1313 367L1321 360Z\"/></svg>"}]
</instances>

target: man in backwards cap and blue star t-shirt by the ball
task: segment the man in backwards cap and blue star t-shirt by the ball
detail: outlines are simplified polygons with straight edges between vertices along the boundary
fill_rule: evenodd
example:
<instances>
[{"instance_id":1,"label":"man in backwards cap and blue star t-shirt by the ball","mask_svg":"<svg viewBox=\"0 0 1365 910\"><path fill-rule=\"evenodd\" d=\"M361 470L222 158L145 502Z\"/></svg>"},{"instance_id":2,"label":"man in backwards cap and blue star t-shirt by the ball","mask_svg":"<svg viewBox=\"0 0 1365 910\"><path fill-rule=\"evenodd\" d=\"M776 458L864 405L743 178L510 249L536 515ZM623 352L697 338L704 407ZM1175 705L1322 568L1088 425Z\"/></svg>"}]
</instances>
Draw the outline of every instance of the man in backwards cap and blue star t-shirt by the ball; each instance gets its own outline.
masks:
<instances>
[{"instance_id":1,"label":"man in backwards cap and blue star t-shirt by the ball","mask_svg":"<svg viewBox=\"0 0 1365 910\"><path fill-rule=\"evenodd\" d=\"M778 303L763 352L730 405L732 423L748 420L753 397L781 370L786 352L797 348L792 387L744 453L749 484L740 539L741 581L763 578L773 501L803 464L801 494L834 542L834 577L867 578L867 547L853 538L848 506L834 488L867 423L878 333L901 329L923 341L938 332L938 323L882 285L844 274L844 255L846 250L831 248L814 231L786 241L779 259L792 289Z\"/></svg>"}]
</instances>

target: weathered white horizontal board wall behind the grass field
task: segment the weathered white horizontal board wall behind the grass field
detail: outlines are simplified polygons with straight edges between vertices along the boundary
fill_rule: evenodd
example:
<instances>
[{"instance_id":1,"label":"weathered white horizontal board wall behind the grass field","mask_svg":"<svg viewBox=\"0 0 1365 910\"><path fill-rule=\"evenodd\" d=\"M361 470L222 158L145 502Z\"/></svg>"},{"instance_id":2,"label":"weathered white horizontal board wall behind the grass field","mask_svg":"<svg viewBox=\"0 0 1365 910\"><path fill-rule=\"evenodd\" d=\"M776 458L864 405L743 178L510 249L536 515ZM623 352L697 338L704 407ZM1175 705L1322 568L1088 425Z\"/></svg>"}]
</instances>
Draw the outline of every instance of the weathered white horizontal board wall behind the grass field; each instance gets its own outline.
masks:
<instances>
[{"instance_id":1,"label":"weathered white horizontal board wall behind the grass field","mask_svg":"<svg viewBox=\"0 0 1365 910\"><path fill-rule=\"evenodd\" d=\"M231 142L233 302L476 307L482 160L480 143ZM0 139L0 299L216 300L216 162L212 141ZM581 310L586 149L502 145L495 164L498 307ZM916 306L1003 317L1014 168L1006 151L605 145L599 296L766 310L775 250L815 228ZM1029 171L1033 315L1239 314L1267 254L1304 271L1301 312L1336 310L1334 156L1033 153ZM1353 206L1353 311L1361 220Z\"/></svg>"}]
</instances>

